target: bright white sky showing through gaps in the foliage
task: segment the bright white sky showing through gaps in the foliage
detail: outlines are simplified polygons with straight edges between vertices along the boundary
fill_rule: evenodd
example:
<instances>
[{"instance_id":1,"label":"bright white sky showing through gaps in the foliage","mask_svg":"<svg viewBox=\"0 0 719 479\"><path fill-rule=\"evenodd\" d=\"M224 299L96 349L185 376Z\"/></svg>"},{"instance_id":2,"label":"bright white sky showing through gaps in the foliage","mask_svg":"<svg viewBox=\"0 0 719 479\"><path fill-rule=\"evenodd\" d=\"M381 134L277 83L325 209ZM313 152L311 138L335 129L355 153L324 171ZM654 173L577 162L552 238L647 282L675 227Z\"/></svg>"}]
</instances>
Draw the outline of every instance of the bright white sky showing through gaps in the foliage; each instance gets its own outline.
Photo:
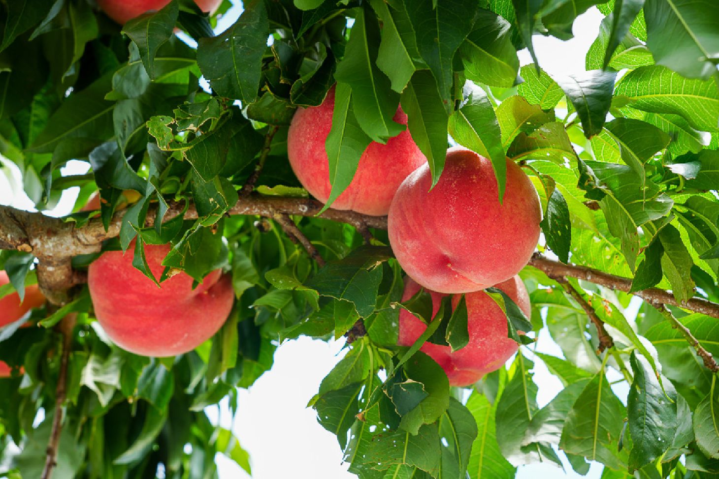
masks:
<instances>
[{"instance_id":1,"label":"bright white sky showing through gaps in the foliage","mask_svg":"<svg viewBox=\"0 0 719 479\"><path fill-rule=\"evenodd\" d=\"M237 0L233 0L237 1ZM220 20L218 32L232 24L242 7L235 5ZM603 16L592 8L574 22L576 37L568 42L552 37L534 37L534 47L539 64L550 75L580 73L585 69L585 52L597 37ZM531 62L526 50L519 52L522 65ZM0 161L4 159L0 158ZM0 204L31 210L32 202L22 192L22 178L17 167L2 161L0 168ZM71 161L63 169L63 175L79 175L88 170L86 162ZM77 187L63 192L58 207L47 212L51 215L70 213ZM631 307L636 315L636 304ZM239 391L239 408L234 425L231 422L227 403L208 408L214 421L224 427L232 427L242 446L251 456L252 478L255 479L350 479L356 476L347 473L342 465L342 451L334 434L327 432L316 421L313 409L305 406L316 393L322 378L342 358L344 340L324 343L320 340L300 338L280 345L275 353L275 364L249 390ZM538 350L562 355L546 331L541 332L536 345ZM534 381L539 384L539 405L544 406L561 389L561 383L551 376L546 368L538 364ZM620 391L618 391L620 393ZM623 393L623 394L621 394ZM626 397L626 388L620 397ZM245 479L247 473L234 462L218 455L217 462L221 479ZM567 467L571 471L571 468ZM600 477L600 465L592 465L587 479ZM581 478L575 473L563 473L554 465L531 465L520 468L520 479Z\"/></svg>"}]
</instances>

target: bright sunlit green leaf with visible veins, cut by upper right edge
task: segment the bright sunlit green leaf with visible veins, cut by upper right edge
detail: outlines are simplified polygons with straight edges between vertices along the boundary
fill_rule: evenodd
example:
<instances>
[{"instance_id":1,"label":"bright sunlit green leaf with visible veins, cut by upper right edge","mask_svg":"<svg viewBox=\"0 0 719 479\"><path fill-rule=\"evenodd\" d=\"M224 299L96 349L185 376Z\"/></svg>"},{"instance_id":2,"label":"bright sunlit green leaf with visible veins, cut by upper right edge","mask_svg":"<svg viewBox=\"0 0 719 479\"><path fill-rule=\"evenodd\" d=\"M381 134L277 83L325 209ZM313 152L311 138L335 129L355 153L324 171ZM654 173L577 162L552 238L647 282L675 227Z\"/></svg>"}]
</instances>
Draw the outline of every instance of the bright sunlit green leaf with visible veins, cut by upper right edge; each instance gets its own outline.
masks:
<instances>
[{"instance_id":1,"label":"bright sunlit green leaf with visible veins, cut by upper right edge","mask_svg":"<svg viewBox=\"0 0 719 479\"><path fill-rule=\"evenodd\" d=\"M690 80L659 65L641 67L624 75L614 94L626 96L632 108L674 113L692 128L719 131L719 89L714 80Z\"/></svg>"}]
</instances>

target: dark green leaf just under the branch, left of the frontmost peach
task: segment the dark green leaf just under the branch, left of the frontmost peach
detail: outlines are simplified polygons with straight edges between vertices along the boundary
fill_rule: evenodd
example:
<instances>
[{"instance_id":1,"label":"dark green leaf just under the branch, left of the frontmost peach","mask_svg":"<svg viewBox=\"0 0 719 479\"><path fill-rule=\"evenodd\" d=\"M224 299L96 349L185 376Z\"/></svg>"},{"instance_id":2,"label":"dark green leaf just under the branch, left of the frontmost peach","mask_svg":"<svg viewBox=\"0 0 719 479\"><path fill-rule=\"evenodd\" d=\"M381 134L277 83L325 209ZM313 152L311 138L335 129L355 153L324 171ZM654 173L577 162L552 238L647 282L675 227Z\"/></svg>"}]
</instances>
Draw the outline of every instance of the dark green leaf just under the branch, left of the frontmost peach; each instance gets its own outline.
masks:
<instances>
[{"instance_id":1,"label":"dark green leaf just under the branch, left of the frontmost peach","mask_svg":"<svg viewBox=\"0 0 719 479\"><path fill-rule=\"evenodd\" d=\"M375 311L382 282L382 268L377 266L391 256L387 247L357 248L344 259L324 266L306 286L316 289L321 296L353 302L359 315L367 317Z\"/></svg>"}]
</instances>

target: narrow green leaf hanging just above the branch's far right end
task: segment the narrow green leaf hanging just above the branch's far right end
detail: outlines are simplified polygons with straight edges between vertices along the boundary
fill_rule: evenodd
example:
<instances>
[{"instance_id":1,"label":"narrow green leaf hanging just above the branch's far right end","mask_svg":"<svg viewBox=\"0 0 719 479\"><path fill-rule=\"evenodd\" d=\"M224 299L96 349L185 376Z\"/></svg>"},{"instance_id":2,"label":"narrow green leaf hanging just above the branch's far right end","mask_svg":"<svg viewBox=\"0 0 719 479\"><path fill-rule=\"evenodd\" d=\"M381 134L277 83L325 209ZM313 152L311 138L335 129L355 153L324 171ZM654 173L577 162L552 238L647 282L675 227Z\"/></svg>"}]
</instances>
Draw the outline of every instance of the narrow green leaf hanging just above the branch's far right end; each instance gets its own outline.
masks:
<instances>
[{"instance_id":1,"label":"narrow green leaf hanging just above the branch's far right end","mask_svg":"<svg viewBox=\"0 0 719 479\"><path fill-rule=\"evenodd\" d=\"M684 302L694 296L694 280L690 270L694 261L684 246L679 231L672 225L667 225L659 231L659 241L664 248L661 256L661 269L672 284L672 293L677 301Z\"/></svg>"}]
</instances>

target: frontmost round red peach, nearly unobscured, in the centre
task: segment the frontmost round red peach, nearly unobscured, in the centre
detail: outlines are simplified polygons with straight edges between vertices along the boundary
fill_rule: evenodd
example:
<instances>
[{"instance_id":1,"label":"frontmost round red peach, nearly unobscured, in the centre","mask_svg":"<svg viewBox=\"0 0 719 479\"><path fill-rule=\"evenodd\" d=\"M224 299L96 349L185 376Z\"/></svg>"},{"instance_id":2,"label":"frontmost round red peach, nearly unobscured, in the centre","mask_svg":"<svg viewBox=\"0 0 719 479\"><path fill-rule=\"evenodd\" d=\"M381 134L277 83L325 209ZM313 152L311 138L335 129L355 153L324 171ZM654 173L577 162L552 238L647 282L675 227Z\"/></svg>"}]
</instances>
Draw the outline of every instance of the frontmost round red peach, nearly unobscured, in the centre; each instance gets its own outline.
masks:
<instances>
[{"instance_id":1,"label":"frontmost round red peach, nearly unobscured, in the centre","mask_svg":"<svg viewBox=\"0 0 719 479\"><path fill-rule=\"evenodd\" d=\"M521 168L506 162L503 203L492 163L468 149L449 149L431 191L426 164L404 180L388 230L412 279L436 292L473 292L510 279L527 264L539 240L539 196Z\"/></svg>"}]
</instances>

